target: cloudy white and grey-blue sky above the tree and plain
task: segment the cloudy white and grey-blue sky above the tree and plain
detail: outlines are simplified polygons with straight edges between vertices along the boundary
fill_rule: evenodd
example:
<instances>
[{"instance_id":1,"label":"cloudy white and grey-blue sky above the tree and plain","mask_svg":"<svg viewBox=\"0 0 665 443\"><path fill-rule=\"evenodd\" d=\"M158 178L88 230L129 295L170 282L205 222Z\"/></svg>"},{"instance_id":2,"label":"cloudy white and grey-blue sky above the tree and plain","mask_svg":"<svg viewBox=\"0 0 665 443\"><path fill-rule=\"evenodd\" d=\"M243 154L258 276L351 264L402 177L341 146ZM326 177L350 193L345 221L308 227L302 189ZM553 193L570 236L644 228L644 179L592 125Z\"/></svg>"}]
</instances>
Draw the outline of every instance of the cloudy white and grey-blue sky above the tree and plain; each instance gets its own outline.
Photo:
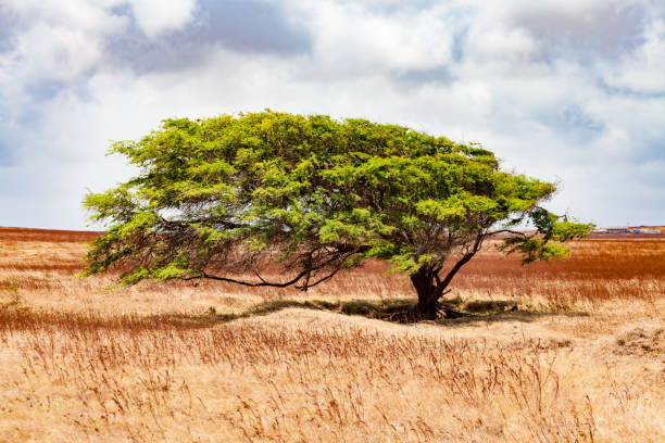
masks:
<instances>
[{"instance_id":1,"label":"cloudy white and grey-blue sky above the tree and plain","mask_svg":"<svg viewBox=\"0 0 665 443\"><path fill-rule=\"evenodd\" d=\"M269 107L480 142L601 226L665 224L662 0L0 0L0 226L99 228L106 156Z\"/></svg>"}]
</instances>

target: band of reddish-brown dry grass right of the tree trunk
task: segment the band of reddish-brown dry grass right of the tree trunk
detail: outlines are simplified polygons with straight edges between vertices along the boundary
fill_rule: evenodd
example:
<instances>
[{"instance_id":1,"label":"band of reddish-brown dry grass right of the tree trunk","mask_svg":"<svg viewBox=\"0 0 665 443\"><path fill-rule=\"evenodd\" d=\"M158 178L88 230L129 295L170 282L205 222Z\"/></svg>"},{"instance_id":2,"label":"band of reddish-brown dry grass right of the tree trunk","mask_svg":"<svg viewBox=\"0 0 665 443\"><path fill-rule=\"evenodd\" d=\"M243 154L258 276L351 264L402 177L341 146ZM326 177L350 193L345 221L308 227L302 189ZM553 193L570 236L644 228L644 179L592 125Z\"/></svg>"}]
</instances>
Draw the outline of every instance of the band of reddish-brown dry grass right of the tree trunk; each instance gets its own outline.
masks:
<instances>
[{"instance_id":1,"label":"band of reddish-brown dry grass right of the tree trunk","mask_svg":"<svg viewBox=\"0 0 665 443\"><path fill-rule=\"evenodd\" d=\"M575 303L604 300L654 300L663 295L665 236L592 237L573 244L570 257L520 266L486 251L455 280L459 290L543 296Z\"/></svg>"}]
</instances>

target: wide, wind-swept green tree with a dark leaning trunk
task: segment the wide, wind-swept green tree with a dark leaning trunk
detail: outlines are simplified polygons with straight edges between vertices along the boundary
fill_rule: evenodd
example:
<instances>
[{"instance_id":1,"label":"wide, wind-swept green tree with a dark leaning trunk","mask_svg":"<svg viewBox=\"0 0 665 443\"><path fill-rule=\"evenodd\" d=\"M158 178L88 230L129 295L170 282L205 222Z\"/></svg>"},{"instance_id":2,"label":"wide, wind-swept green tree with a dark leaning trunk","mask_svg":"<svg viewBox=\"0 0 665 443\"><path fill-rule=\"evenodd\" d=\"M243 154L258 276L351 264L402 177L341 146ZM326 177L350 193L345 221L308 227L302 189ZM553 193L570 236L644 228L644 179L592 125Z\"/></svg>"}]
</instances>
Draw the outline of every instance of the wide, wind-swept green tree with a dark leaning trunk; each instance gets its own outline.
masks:
<instances>
[{"instance_id":1,"label":"wide, wind-swept green tree with a dark leaning trunk","mask_svg":"<svg viewBox=\"0 0 665 443\"><path fill-rule=\"evenodd\" d=\"M85 275L122 266L122 281L213 279L308 290L369 258L406 273L418 312L437 314L455 274L498 233L524 263L567 254L590 224L540 203L552 183L502 172L479 144L402 126L262 113L166 119L122 141L140 174L88 193L110 225ZM535 233L513 230L526 220ZM278 270L269 280L265 270Z\"/></svg>"}]
</instances>

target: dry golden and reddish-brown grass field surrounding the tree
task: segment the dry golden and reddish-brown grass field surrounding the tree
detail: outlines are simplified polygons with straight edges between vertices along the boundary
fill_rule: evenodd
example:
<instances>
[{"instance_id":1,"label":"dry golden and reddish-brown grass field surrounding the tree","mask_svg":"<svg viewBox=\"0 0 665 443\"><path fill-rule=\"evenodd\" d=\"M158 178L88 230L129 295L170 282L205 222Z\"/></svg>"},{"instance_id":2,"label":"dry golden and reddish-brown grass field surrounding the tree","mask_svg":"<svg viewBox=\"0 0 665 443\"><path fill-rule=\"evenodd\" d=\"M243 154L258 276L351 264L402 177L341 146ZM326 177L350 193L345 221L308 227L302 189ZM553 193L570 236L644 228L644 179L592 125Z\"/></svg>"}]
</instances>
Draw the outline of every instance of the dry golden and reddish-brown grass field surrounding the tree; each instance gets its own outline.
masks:
<instances>
[{"instance_id":1,"label":"dry golden and reddish-brown grass field surrounding the tree","mask_svg":"<svg viewBox=\"0 0 665 443\"><path fill-rule=\"evenodd\" d=\"M95 236L0 228L0 442L665 442L665 237L528 267L489 245L465 315L407 322L378 263L106 289L72 278Z\"/></svg>"}]
</instances>

